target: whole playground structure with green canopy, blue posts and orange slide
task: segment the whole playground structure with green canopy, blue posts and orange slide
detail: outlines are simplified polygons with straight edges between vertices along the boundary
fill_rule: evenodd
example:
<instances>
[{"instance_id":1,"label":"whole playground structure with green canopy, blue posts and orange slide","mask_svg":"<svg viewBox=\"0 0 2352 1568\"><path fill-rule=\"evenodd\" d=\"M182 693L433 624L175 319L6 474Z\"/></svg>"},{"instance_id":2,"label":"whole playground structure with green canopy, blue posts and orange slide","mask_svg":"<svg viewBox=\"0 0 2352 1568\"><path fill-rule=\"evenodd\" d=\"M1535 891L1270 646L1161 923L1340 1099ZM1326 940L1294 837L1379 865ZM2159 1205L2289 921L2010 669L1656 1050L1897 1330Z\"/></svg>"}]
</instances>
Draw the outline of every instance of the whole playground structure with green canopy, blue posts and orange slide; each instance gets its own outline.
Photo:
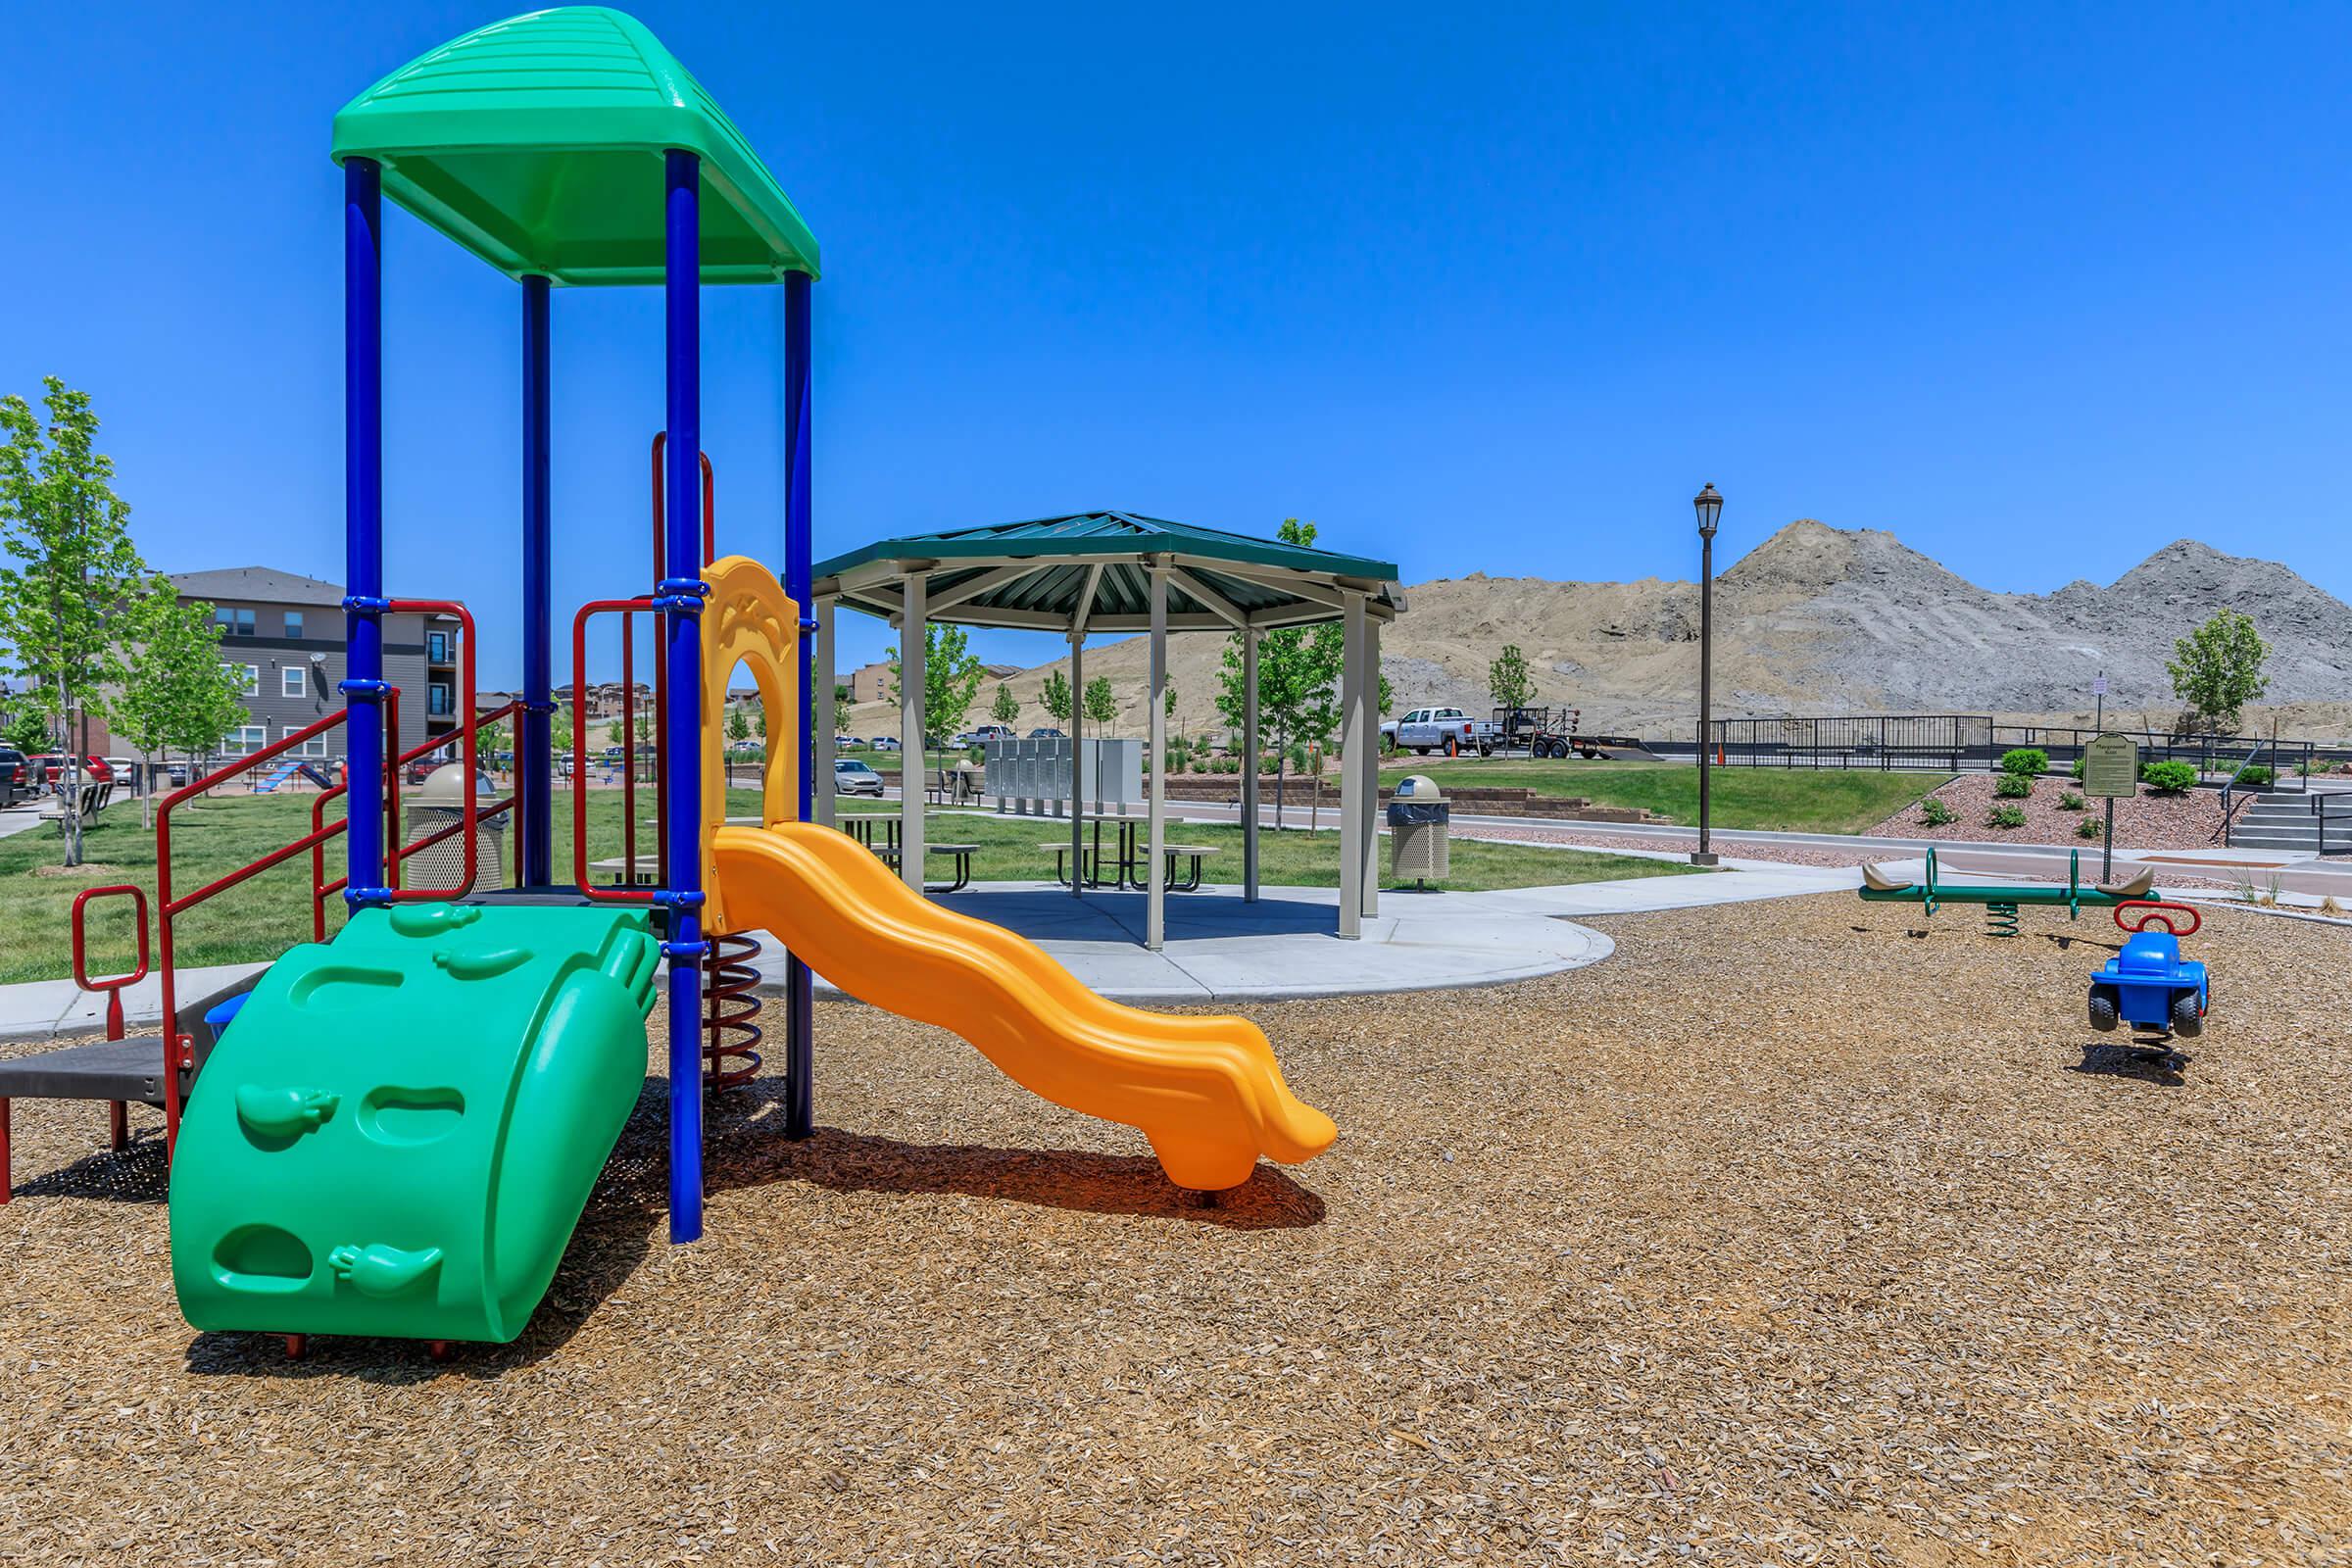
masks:
<instances>
[{"instance_id":1,"label":"whole playground structure with green canopy, blue posts and orange slide","mask_svg":"<svg viewBox=\"0 0 2352 1568\"><path fill-rule=\"evenodd\" d=\"M1249 1178L1256 1159L1322 1152L1331 1121L1282 1084L1265 1034L1240 1018L1160 1016L1087 992L1009 931L927 903L849 837L809 820L809 296L816 244L774 176L699 82L635 19L567 7L477 28L383 78L336 115L346 233L346 555L350 675L343 710L193 780L158 809L160 1063L122 1041L113 990L108 1072L80 1098L165 1110L172 1267L198 1328L428 1340L513 1340L644 1081L656 992L668 999L670 1239L703 1227L703 1095L760 1067L753 929L779 933L786 997L783 1135L814 1128L809 966L844 992L938 1023L1056 1105L1143 1131L1192 1190ZM466 607L383 592L381 197L522 284L522 693L454 736L475 776L485 724L517 726L515 790L461 792L456 823L400 842L400 691L383 682L381 616L430 609L463 623L461 708L473 715ZM597 616L656 630L659 886L586 875L586 717L574 710L574 865L553 870L548 491L553 284L654 284L666 294L668 428L654 437L654 585L574 618L574 672ZM786 303L786 578L715 557L715 470L701 449L699 289L781 284ZM687 456L691 454L691 458ZM623 689L633 679L623 635ZM748 670L767 710L757 825L727 825L722 719ZM586 682L576 679L574 689ZM579 701L579 698L576 698ZM346 726L348 783L320 792L310 832L205 889L174 896L172 806L273 766ZM633 729L623 712L623 736ZM374 780L381 780L376 788ZM635 863L635 785L623 769ZM332 799L346 802L327 820ZM508 813L515 886L494 886L477 825ZM402 863L461 837L461 875L414 886ZM341 837L346 875L327 877ZM172 922L261 870L310 858L313 936L230 1006L209 1051L181 1023ZM146 971L146 905L136 889ZM327 898L350 917L329 940ZM666 973L663 973L666 971ZM78 1048L89 1051L89 1048ZM49 1053L49 1056L71 1056ZM122 1058L122 1060L115 1060ZM40 1060L40 1058L33 1058ZM155 1072L155 1067L162 1067ZM134 1067L143 1067L143 1074ZM198 1072L202 1067L202 1072ZM0 1091L5 1093L5 1091ZM0 1171L5 1171L0 1100ZM5 1190L0 1190L5 1197Z\"/></svg>"}]
</instances>

